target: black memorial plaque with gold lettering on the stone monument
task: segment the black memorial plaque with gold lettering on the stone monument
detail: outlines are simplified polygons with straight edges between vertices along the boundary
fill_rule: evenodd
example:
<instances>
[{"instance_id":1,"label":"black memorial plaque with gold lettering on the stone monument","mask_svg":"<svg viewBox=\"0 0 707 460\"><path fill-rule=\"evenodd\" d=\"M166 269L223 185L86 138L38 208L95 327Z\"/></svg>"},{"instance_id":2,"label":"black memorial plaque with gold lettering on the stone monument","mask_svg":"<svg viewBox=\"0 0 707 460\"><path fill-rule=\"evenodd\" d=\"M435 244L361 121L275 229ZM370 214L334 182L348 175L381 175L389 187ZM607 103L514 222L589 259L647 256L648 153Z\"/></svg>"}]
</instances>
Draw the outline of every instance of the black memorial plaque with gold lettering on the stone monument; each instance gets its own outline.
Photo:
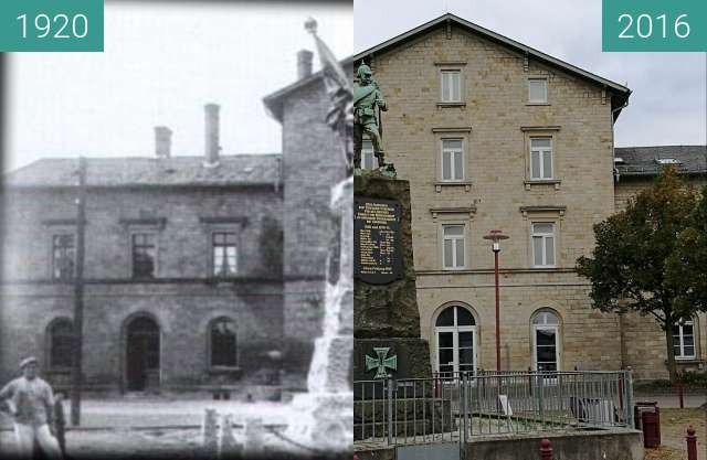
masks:
<instances>
[{"instance_id":1,"label":"black memorial plaque with gold lettering on the stone monument","mask_svg":"<svg viewBox=\"0 0 707 460\"><path fill-rule=\"evenodd\" d=\"M371 285L402 277L400 204L393 200L354 201L354 276Z\"/></svg>"}]
</instances>

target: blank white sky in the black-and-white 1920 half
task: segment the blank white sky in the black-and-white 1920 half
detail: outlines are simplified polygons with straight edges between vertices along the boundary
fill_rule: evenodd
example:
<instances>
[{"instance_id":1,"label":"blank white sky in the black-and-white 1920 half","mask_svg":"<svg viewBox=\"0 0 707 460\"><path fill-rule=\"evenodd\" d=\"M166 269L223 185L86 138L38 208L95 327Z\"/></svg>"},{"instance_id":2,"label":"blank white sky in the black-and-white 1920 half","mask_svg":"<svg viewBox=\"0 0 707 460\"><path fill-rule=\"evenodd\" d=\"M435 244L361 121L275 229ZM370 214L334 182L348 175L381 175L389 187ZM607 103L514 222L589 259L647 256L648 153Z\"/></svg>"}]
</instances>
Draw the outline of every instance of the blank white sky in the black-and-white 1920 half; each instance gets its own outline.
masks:
<instances>
[{"instance_id":1,"label":"blank white sky in the black-and-white 1920 half","mask_svg":"<svg viewBox=\"0 0 707 460\"><path fill-rule=\"evenodd\" d=\"M262 98L296 81L299 50L315 50L310 15L337 56L352 54L351 3L106 1L104 53L10 55L3 169L150 157L159 125L173 131L173 156L203 154L208 103L221 105L224 153L279 152Z\"/></svg>"}]
</instances>

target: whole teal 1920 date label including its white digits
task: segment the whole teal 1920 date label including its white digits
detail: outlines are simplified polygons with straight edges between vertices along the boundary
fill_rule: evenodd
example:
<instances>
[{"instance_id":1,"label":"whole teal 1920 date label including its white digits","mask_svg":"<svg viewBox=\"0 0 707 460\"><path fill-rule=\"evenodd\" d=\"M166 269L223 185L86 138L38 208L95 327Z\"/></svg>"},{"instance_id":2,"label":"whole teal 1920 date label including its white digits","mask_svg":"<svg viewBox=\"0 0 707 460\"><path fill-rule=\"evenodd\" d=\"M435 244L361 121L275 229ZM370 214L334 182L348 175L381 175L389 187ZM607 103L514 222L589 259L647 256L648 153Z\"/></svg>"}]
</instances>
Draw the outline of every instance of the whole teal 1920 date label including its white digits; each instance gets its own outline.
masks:
<instances>
[{"instance_id":1,"label":"whole teal 1920 date label including its white digits","mask_svg":"<svg viewBox=\"0 0 707 460\"><path fill-rule=\"evenodd\" d=\"M103 51L103 0L0 1L0 52Z\"/></svg>"}]
</instances>

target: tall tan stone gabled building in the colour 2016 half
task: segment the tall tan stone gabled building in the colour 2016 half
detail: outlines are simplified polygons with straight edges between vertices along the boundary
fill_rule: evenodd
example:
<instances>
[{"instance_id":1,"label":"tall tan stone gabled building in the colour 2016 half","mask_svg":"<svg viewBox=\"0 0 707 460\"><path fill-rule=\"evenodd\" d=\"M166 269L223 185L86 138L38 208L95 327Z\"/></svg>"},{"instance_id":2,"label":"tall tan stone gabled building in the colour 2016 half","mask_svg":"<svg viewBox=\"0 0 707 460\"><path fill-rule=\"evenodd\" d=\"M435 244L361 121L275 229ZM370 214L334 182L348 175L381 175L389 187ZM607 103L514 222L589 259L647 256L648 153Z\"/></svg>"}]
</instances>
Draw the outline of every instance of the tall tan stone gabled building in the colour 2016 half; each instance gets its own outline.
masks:
<instances>
[{"instance_id":1,"label":"tall tan stone gabled building in the colour 2016 half","mask_svg":"<svg viewBox=\"0 0 707 460\"><path fill-rule=\"evenodd\" d=\"M635 191L614 181L613 126L631 90L453 14L361 61L390 107L389 161L410 181L433 371L496 367L494 256L483 236L499 228L510 237L500 253L502 368L631 365L637 378L666 376L664 339L652 336L654 355L641 353L651 320L632 318L622 332L618 315L591 309L573 268L591 253L592 226ZM365 165L371 153L365 146Z\"/></svg>"}]
</instances>

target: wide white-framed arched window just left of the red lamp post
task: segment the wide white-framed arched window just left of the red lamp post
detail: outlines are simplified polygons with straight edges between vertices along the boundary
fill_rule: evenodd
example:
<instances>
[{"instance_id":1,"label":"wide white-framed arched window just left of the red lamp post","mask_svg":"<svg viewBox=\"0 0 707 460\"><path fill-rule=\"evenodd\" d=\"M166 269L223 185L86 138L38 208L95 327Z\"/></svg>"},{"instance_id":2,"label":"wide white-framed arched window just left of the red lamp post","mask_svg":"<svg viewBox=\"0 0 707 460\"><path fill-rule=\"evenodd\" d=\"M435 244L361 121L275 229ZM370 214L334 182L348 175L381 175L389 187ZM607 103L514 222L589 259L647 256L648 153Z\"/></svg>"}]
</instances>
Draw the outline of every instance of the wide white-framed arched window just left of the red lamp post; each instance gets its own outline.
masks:
<instances>
[{"instance_id":1,"label":"wide white-framed arched window just left of the red lamp post","mask_svg":"<svg viewBox=\"0 0 707 460\"><path fill-rule=\"evenodd\" d=\"M437 372L449 376L476 372L476 321L472 313L464 307L447 307L434 325Z\"/></svg>"}]
</instances>

